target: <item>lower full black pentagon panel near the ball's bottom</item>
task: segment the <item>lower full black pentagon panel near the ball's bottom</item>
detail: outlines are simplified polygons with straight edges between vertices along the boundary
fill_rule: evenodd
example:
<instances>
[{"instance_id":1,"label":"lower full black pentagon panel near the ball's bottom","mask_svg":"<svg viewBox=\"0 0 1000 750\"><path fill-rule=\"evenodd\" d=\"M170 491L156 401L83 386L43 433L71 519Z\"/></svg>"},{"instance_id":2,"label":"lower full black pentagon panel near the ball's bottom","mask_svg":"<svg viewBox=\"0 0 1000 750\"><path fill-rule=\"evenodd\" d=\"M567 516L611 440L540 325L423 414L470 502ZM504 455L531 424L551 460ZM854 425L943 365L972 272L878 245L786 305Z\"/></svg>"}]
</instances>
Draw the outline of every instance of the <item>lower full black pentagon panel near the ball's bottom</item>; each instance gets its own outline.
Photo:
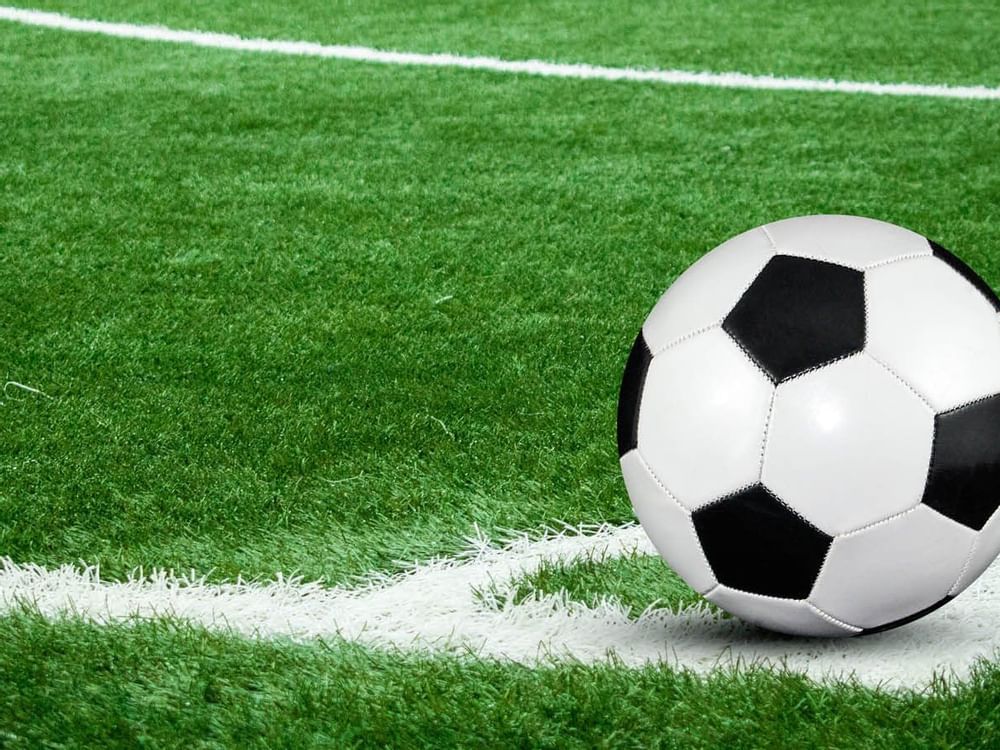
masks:
<instances>
[{"instance_id":1,"label":"lower full black pentagon panel near the ball's bottom","mask_svg":"<svg viewBox=\"0 0 1000 750\"><path fill-rule=\"evenodd\" d=\"M765 596L805 599L833 537L757 484L692 514L719 583Z\"/></svg>"}]
</instances>

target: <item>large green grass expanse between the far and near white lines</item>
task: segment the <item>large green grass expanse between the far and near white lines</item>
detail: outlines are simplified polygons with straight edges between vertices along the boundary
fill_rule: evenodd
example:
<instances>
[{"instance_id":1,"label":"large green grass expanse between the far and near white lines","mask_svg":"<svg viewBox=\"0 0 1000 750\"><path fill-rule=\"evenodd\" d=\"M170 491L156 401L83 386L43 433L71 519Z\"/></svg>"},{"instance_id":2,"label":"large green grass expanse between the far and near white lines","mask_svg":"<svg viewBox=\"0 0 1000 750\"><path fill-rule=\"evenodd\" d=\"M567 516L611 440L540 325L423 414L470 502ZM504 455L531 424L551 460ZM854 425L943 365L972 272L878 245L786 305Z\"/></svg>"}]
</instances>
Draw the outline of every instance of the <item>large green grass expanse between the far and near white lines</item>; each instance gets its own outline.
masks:
<instances>
[{"instance_id":1,"label":"large green grass expanse between the far and near white lines","mask_svg":"<svg viewBox=\"0 0 1000 750\"><path fill-rule=\"evenodd\" d=\"M17 560L339 581L629 520L622 362L713 245L859 213L1000 278L988 104L0 49Z\"/></svg>"}]
</instances>

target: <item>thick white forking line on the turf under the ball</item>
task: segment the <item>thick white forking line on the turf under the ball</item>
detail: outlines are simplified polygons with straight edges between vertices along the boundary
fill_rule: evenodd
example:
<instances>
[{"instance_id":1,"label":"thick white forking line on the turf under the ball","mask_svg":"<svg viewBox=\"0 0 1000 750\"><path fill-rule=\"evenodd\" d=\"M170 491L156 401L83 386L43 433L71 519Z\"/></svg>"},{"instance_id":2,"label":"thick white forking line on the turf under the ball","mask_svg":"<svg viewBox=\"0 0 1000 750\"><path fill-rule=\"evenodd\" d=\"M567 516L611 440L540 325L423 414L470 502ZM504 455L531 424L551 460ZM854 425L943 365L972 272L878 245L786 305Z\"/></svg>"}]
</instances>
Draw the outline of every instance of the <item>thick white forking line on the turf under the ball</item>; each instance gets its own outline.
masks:
<instances>
[{"instance_id":1,"label":"thick white forking line on the turf under the ball","mask_svg":"<svg viewBox=\"0 0 1000 750\"><path fill-rule=\"evenodd\" d=\"M630 620L616 601L596 607L545 596L519 605L502 596L543 561L614 558L652 553L641 527L602 526L527 537L505 546L472 540L451 560L416 565L354 589L324 588L298 579L208 584L159 572L126 582L102 581L94 569L0 567L0 613L32 606L58 618L98 623L172 616L211 629L299 640L342 637L374 647L474 653L525 664L573 659L603 661L614 653L628 665L664 662L699 673L734 662L785 664L819 681L922 689L935 673L965 677L980 657L995 658L1000 631L1000 566L969 590L916 623L880 635L800 639L769 634L709 610L678 614L650 610ZM492 587L492 588L491 588ZM499 591L484 604L475 591Z\"/></svg>"}]
</instances>

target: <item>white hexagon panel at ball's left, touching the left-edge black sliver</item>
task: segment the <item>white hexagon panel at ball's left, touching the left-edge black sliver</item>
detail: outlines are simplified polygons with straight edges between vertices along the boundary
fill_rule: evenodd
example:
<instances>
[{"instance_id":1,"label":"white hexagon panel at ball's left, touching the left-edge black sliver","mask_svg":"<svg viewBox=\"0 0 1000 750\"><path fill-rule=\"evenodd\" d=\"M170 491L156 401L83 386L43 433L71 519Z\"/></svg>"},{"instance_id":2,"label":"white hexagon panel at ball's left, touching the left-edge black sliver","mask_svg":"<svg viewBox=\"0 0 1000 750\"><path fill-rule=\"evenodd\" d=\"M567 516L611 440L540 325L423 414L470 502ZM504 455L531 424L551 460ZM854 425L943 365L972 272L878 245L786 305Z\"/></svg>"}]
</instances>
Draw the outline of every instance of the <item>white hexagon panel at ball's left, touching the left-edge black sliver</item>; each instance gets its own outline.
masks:
<instances>
[{"instance_id":1,"label":"white hexagon panel at ball's left, touching the left-edge black sliver","mask_svg":"<svg viewBox=\"0 0 1000 750\"><path fill-rule=\"evenodd\" d=\"M687 509L757 481L773 390L719 328L652 358L639 410L638 447Z\"/></svg>"}]
</instances>

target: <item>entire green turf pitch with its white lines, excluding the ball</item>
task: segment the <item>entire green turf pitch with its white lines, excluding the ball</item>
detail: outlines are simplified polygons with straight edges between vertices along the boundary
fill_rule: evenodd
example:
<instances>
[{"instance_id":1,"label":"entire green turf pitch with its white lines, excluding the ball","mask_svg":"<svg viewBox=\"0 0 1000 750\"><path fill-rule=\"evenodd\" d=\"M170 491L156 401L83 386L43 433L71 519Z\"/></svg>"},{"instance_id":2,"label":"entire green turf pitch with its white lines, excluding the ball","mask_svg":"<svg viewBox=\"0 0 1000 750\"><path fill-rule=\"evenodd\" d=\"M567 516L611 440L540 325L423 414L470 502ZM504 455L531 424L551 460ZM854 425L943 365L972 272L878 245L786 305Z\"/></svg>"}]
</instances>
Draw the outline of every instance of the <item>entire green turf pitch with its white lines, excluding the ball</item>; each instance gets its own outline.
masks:
<instances>
[{"instance_id":1,"label":"entire green turf pitch with its white lines, excluding the ball","mask_svg":"<svg viewBox=\"0 0 1000 750\"><path fill-rule=\"evenodd\" d=\"M615 450L643 318L747 228L873 216L997 288L992 3L32 9L0 747L1000 745L996 567L768 635L650 554Z\"/></svg>"}]
</instances>

